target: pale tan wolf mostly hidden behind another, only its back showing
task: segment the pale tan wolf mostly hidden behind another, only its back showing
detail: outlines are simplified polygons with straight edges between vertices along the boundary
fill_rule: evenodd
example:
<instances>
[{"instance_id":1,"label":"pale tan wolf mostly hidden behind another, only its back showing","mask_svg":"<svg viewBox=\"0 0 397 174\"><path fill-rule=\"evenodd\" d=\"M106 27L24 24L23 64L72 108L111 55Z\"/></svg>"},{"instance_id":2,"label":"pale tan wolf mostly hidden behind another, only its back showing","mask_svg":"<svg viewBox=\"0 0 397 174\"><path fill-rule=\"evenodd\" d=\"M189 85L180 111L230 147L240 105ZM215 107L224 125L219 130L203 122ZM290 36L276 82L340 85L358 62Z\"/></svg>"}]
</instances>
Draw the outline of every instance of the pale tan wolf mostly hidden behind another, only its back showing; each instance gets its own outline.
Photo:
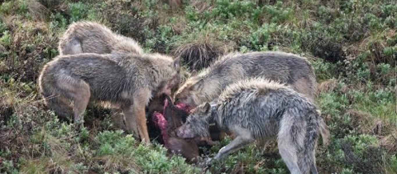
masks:
<instances>
[{"instance_id":1,"label":"pale tan wolf mostly hidden behind another, only its back showing","mask_svg":"<svg viewBox=\"0 0 397 174\"><path fill-rule=\"evenodd\" d=\"M134 39L113 33L108 27L91 21L72 23L58 43L60 55L79 53L143 54Z\"/></svg>"}]
</instances>

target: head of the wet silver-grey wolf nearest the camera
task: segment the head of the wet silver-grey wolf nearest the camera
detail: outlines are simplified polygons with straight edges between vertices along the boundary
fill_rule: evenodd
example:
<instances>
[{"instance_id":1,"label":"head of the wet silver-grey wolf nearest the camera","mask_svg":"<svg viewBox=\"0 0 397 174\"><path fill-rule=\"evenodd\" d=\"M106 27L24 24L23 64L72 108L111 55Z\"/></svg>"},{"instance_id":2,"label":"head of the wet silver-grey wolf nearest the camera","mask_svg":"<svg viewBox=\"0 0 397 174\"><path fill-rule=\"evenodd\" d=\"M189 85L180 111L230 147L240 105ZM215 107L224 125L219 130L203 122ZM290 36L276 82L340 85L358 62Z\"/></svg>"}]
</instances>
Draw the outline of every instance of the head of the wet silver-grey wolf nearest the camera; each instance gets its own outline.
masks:
<instances>
[{"instance_id":1,"label":"head of the wet silver-grey wolf nearest the camera","mask_svg":"<svg viewBox=\"0 0 397 174\"><path fill-rule=\"evenodd\" d=\"M186 122L177 128L177 136L180 138L209 137L209 120L212 119L212 112L214 112L211 108L209 103L199 105L187 117Z\"/></svg>"}]
</instances>

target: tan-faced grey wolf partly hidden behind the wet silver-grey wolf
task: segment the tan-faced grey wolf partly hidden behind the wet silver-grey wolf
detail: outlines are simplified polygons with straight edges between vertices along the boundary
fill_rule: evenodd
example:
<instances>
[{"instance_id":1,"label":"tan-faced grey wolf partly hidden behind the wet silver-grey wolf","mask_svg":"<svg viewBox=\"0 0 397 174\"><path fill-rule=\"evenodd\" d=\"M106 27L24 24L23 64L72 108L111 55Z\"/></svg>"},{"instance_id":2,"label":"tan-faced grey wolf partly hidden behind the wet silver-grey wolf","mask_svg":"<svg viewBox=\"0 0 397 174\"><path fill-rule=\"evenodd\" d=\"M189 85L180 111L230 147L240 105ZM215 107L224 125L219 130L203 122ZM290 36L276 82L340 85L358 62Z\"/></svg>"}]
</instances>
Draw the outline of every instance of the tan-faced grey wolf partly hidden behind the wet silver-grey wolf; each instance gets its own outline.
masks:
<instances>
[{"instance_id":1,"label":"tan-faced grey wolf partly hidden behind the wet silver-grey wolf","mask_svg":"<svg viewBox=\"0 0 397 174\"><path fill-rule=\"evenodd\" d=\"M216 99L229 84L251 77L268 78L289 85L310 101L314 101L316 95L316 75L310 62L285 52L231 53L218 58L200 73L191 74L175 93L175 103L183 103L186 110ZM324 138L329 137L323 119L321 125L321 134Z\"/></svg>"}]
</instances>

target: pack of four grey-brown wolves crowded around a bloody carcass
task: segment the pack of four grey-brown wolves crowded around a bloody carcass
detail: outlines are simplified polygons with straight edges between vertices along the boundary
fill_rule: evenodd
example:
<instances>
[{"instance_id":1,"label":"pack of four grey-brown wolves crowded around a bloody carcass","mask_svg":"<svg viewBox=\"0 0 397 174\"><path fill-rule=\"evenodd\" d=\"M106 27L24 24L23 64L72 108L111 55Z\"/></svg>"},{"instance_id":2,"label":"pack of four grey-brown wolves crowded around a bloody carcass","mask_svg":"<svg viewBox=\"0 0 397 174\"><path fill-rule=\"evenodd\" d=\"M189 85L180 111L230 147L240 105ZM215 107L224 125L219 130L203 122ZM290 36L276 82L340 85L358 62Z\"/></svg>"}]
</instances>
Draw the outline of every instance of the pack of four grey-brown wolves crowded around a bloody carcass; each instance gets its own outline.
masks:
<instances>
[{"instance_id":1,"label":"pack of four grey-brown wolves crowded around a bloody carcass","mask_svg":"<svg viewBox=\"0 0 397 174\"><path fill-rule=\"evenodd\" d=\"M233 137L204 166L245 145L275 141L291 174L318 173L317 140L321 136L327 145L330 132L315 104L314 70L304 57L234 52L188 72L178 57L145 53L133 38L91 21L69 25L58 50L40 72L39 91L49 109L77 128L87 105L100 104L121 111L126 131L149 144L147 116L158 111L168 115L167 122L179 121L168 126L169 149L191 151L200 141L213 145L214 130Z\"/></svg>"}]
</instances>

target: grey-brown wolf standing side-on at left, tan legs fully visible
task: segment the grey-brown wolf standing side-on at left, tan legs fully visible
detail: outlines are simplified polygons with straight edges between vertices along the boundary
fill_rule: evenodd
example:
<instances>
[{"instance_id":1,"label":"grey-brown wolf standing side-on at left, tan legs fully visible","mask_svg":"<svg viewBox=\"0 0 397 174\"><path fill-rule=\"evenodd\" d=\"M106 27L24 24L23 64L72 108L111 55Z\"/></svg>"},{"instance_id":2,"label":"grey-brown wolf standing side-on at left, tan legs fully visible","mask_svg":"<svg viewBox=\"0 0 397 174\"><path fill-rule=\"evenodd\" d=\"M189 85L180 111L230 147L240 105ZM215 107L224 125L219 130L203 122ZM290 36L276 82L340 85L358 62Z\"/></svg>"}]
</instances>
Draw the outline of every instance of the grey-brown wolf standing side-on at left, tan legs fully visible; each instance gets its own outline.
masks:
<instances>
[{"instance_id":1,"label":"grey-brown wolf standing side-on at left, tan legs fully visible","mask_svg":"<svg viewBox=\"0 0 397 174\"><path fill-rule=\"evenodd\" d=\"M58 116L73 111L74 122L82 125L90 101L108 103L123 111L129 132L149 143L145 106L152 96L171 93L179 68L179 59L161 54L58 55L44 65L38 86Z\"/></svg>"}]
</instances>

